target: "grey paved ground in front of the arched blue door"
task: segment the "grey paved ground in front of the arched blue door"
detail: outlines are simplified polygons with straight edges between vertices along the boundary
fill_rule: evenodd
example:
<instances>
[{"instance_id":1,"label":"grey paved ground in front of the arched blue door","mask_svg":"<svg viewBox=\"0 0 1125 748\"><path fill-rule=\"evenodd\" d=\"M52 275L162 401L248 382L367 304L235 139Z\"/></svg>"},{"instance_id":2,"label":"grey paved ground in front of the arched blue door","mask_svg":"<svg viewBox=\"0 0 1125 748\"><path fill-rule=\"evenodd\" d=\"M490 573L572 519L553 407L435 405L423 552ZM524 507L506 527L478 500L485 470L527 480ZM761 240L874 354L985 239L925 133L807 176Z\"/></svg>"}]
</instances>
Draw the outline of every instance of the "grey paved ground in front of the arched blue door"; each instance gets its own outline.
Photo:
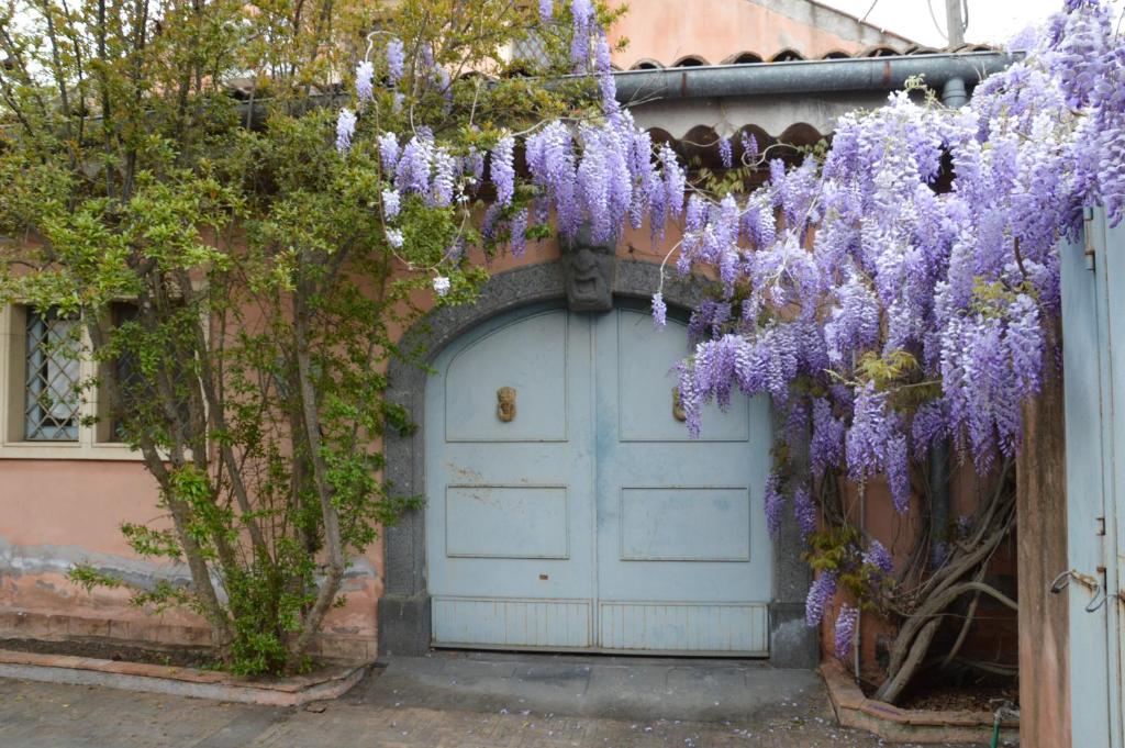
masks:
<instances>
[{"instance_id":1,"label":"grey paved ground in front of the arched blue door","mask_svg":"<svg viewBox=\"0 0 1125 748\"><path fill-rule=\"evenodd\" d=\"M0 679L3 748L882 745L813 674L723 661L442 654L298 710Z\"/></svg>"}]
</instances>

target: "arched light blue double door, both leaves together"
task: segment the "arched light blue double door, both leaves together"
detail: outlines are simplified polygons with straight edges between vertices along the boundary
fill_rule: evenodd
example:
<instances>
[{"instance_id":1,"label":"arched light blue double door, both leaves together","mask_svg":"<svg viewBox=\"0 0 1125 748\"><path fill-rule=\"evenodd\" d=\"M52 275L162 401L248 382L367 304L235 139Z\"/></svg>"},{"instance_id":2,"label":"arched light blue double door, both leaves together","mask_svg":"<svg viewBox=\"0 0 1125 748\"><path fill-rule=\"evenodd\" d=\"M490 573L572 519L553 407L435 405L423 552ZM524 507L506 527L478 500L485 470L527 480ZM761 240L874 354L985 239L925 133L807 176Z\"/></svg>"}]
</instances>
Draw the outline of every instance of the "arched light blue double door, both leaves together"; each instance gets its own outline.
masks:
<instances>
[{"instance_id":1,"label":"arched light blue double door, both leaves together","mask_svg":"<svg viewBox=\"0 0 1125 748\"><path fill-rule=\"evenodd\" d=\"M439 647L768 654L768 405L688 438L686 328L524 310L464 336L426 390Z\"/></svg>"}]
</instances>

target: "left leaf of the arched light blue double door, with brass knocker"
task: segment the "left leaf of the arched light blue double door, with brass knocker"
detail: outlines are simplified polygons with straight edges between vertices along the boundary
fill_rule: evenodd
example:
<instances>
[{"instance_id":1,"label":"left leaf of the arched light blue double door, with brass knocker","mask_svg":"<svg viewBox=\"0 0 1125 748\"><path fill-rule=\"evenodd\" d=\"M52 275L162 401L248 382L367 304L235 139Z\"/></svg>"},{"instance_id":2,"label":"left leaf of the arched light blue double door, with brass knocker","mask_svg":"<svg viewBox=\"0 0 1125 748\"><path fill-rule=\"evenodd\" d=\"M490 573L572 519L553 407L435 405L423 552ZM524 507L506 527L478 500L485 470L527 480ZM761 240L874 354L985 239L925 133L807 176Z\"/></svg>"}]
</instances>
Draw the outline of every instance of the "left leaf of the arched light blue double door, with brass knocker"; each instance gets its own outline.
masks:
<instances>
[{"instance_id":1,"label":"left leaf of the arched light blue double door, with brass knocker","mask_svg":"<svg viewBox=\"0 0 1125 748\"><path fill-rule=\"evenodd\" d=\"M439 355L426 388L434 645L593 642L590 325L501 318ZM497 390L515 395L501 417Z\"/></svg>"}]
</instances>

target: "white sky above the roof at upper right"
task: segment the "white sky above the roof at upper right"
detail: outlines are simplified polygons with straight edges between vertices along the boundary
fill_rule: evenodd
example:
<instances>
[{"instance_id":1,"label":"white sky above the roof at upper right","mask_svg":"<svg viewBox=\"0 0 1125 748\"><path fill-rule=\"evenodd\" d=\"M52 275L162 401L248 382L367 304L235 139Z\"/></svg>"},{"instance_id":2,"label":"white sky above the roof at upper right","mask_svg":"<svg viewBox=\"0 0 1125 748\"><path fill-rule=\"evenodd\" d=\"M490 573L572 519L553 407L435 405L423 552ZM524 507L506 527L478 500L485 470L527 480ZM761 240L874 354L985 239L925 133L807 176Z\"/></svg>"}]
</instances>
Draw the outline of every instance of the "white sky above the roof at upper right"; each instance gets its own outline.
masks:
<instances>
[{"instance_id":1,"label":"white sky above the roof at upper right","mask_svg":"<svg viewBox=\"0 0 1125 748\"><path fill-rule=\"evenodd\" d=\"M862 18L872 0L819 0ZM1120 8L1125 0L1116 0ZM926 6L933 3L940 25L935 28ZM969 0L969 29L965 40L1004 44L1032 24L1043 21L1062 8L1063 0ZM945 46L945 0L878 0L867 21L933 47Z\"/></svg>"}]
</instances>

